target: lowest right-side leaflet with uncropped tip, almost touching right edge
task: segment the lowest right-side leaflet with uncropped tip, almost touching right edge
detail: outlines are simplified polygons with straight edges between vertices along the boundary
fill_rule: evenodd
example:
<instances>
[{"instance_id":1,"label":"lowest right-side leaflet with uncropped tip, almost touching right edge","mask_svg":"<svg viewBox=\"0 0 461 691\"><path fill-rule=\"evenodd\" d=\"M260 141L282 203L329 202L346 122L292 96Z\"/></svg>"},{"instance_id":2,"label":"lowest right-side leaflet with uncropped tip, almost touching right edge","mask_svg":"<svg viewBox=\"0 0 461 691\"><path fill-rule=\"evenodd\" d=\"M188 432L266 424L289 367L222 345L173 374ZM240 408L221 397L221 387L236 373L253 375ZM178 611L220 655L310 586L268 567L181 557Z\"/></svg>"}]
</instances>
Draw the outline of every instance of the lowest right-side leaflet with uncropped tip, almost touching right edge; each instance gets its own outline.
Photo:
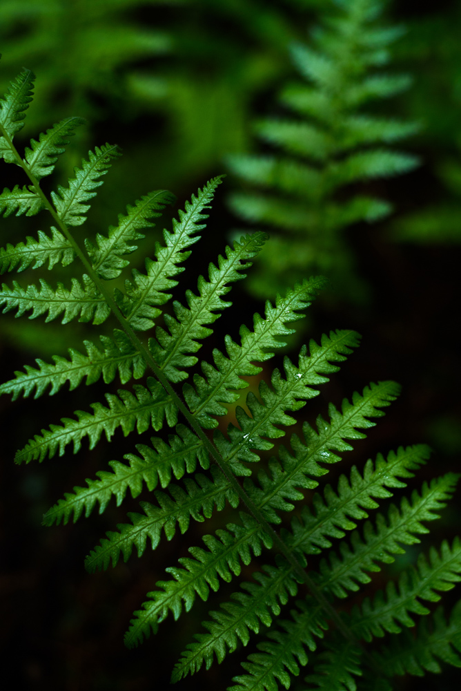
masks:
<instances>
[{"instance_id":1,"label":"lowest right-side leaflet with uncropped tip, almost touching right edge","mask_svg":"<svg viewBox=\"0 0 461 691\"><path fill-rule=\"evenodd\" d=\"M437 513L446 506L447 500L455 490L458 475L448 473L431 485L424 483L419 495L413 491L412 503L404 497L400 510L391 504L387 521L381 514L377 515L376 526L367 521L364 525L362 540L358 531L351 534L351 545L342 542L341 557L335 552L320 562L319 584L322 591L331 591L335 596L344 598L347 590L356 591L360 583L369 583L371 578L366 571L380 571L375 562L390 563L393 554L404 553L402 545L414 545L420 542L418 533L428 533L422 521L439 518ZM400 543L400 544L399 544Z\"/></svg>"}]
</instances>

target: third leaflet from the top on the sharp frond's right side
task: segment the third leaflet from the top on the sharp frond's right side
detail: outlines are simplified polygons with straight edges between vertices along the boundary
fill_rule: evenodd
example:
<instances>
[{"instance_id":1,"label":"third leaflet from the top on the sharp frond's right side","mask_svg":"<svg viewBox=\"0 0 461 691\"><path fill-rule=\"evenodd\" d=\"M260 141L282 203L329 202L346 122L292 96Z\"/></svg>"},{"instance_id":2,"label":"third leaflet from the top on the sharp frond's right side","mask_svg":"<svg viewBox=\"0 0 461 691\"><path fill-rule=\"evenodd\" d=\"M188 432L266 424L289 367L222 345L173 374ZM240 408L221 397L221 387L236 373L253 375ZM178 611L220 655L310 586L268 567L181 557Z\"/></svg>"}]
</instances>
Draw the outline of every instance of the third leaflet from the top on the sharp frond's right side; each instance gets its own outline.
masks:
<instances>
[{"instance_id":1,"label":"third leaflet from the top on the sharp frond's right side","mask_svg":"<svg viewBox=\"0 0 461 691\"><path fill-rule=\"evenodd\" d=\"M96 196L93 192L103 181L98 180L106 175L112 165L112 160L120 155L118 146L103 144L96 147L95 152L88 153L89 160L81 162L81 168L74 168L75 178L69 180L68 187L58 186L58 191L52 192L51 197L55 204L59 218L66 225L81 225L85 223L83 214L90 208L88 200Z\"/></svg>"}]
</instances>

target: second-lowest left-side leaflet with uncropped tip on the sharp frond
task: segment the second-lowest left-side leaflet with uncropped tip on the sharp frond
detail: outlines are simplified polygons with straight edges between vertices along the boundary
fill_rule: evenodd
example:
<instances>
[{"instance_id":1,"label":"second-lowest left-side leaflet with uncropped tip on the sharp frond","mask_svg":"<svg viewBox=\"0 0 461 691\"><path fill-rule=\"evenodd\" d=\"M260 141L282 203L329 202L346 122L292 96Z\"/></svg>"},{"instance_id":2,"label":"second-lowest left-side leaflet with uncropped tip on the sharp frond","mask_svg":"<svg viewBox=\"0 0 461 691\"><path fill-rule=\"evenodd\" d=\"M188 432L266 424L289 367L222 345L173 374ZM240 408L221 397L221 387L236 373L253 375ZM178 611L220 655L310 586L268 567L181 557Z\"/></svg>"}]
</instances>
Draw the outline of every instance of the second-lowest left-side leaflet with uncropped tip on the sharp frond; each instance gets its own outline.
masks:
<instances>
[{"instance_id":1,"label":"second-lowest left-side leaflet with uncropped tip on the sharp frond","mask_svg":"<svg viewBox=\"0 0 461 691\"><path fill-rule=\"evenodd\" d=\"M182 602L186 612L189 611L195 601L195 594L202 600L208 598L210 588L217 591L219 588L218 576L225 581L230 581L232 574L238 576L242 567L251 562L251 552L258 556L262 546L268 548L273 544L273 538L255 521L254 518L241 513L242 524L230 523L226 529L216 531L217 538L212 535L204 536L202 540L206 550L201 547L189 547L193 559L179 558L179 563L184 567L168 567L166 571L173 574L168 581L158 581L156 584L161 590L147 594L148 602L143 604L144 609L135 612L135 618L130 622L130 628L125 635L125 643L128 647L134 647L141 643L152 630L157 632L158 624L166 618L171 611L175 619L182 612Z\"/></svg>"}]
</instances>

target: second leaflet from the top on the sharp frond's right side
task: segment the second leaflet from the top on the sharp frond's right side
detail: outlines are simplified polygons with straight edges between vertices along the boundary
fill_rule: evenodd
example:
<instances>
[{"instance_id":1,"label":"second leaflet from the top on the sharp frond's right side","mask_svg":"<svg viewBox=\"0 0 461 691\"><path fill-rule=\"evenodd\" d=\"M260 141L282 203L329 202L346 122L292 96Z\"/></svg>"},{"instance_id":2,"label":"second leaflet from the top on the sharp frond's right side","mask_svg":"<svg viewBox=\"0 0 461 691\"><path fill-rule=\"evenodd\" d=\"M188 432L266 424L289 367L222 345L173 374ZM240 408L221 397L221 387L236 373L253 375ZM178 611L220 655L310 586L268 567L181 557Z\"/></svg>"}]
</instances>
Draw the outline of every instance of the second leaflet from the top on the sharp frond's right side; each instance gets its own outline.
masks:
<instances>
[{"instance_id":1,"label":"second leaflet from the top on the sharp frond's right side","mask_svg":"<svg viewBox=\"0 0 461 691\"><path fill-rule=\"evenodd\" d=\"M66 117L39 135L39 141L30 140L30 149L26 146L25 161L30 173L37 180L50 175L55 169L58 155L64 153L65 144L75 134L74 130L85 122L83 117Z\"/></svg>"}]
</instances>

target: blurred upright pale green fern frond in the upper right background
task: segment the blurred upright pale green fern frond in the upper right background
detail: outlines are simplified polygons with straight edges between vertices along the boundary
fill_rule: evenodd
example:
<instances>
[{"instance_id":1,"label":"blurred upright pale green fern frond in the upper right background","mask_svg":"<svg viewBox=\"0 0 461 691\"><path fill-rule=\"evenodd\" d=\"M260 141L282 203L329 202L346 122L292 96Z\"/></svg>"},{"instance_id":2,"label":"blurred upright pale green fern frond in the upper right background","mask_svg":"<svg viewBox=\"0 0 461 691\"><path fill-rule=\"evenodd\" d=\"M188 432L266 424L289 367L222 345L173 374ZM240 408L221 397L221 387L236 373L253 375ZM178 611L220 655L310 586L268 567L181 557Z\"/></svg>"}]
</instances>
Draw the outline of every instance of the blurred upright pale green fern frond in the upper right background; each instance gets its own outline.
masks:
<instances>
[{"instance_id":1,"label":"blurred upright pale green fern frond in the upper right background","mask_svg":"<svg viewBox=\"0 0 461 691\"><path fill-rule=\"evenodd\" d=\"M391 97L408 82L375 72L389 61L389 46L401 28L381 26L378 0L334 4L311 45L291 47L304 79L280 95L291 118L254 124L257 138L277 152L228 157L230 171L241 181L240 191L230 195L231 209L248 223L271 228L271 245L249 281L258 296L308 270L331 276L342 290L364 299L344 231L362 221L374 223L391 205L361 192L360 184L418 164L414 155L393 149L418 126L362 111L363 104Z\"/></svg>"}]
</instances>

